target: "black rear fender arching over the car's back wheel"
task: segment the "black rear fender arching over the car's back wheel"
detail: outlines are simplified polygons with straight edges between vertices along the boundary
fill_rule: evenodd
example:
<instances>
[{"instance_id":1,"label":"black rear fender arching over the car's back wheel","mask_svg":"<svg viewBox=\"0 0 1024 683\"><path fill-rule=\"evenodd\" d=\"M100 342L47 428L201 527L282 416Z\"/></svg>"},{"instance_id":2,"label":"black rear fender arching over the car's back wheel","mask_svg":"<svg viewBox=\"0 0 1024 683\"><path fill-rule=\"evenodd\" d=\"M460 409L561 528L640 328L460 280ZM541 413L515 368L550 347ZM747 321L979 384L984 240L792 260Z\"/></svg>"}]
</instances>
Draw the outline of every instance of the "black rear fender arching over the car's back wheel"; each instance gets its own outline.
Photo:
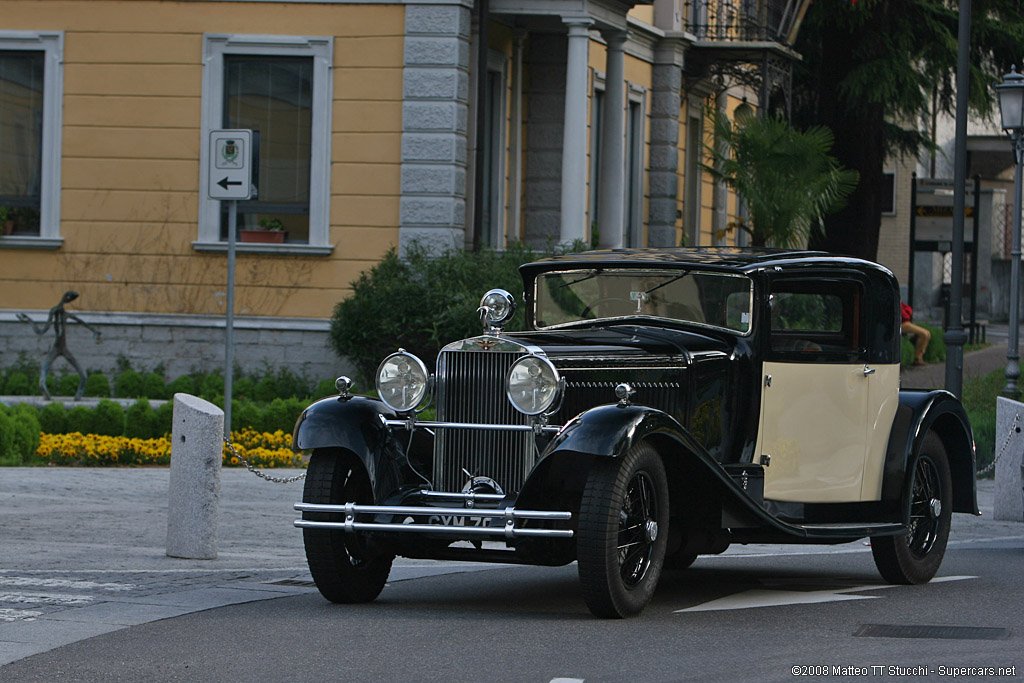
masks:
<instances>
[{"instance_id":1,"label":"black rear fender arching over the car's back wheel","mask_svg":"<svg viewBox=\"0 0 1024 683\"><path fill-rule=\"evenodd\" d=\"M909 522L910 484L906 473L929 431L942 440L952 477L953 512L979 515L974 432L963 403L948 391L901 390L899 407L886 449L882 500L899 502L902 520Z\"/></svg>"}]
</instances>

